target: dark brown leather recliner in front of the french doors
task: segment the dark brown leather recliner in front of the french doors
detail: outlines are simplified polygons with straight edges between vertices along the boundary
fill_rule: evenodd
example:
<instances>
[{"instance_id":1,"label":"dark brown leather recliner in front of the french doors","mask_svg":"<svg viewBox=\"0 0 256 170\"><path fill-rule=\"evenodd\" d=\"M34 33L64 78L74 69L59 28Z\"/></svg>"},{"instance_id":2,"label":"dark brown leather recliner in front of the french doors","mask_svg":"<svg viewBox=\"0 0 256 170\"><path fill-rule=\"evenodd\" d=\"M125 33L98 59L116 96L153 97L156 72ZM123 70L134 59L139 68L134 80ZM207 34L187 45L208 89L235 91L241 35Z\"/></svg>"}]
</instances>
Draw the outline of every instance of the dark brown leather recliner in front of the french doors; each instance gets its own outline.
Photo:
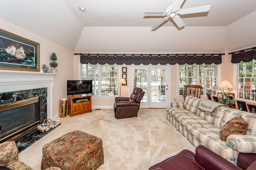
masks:
<instances>
[{"instance_id":1,"label":"dark brown leather recliner in front of the french doors","mask_svg":"<svg viewBox=\"0 0 256 170\"><path fill-rule=\"evenodd\" d=\"M137 116L140 109L140 101L145 92L141 88L135 87L130 98L116 97L114 103L114 112L116 119Z\"/></svg>"}]
</instances>

